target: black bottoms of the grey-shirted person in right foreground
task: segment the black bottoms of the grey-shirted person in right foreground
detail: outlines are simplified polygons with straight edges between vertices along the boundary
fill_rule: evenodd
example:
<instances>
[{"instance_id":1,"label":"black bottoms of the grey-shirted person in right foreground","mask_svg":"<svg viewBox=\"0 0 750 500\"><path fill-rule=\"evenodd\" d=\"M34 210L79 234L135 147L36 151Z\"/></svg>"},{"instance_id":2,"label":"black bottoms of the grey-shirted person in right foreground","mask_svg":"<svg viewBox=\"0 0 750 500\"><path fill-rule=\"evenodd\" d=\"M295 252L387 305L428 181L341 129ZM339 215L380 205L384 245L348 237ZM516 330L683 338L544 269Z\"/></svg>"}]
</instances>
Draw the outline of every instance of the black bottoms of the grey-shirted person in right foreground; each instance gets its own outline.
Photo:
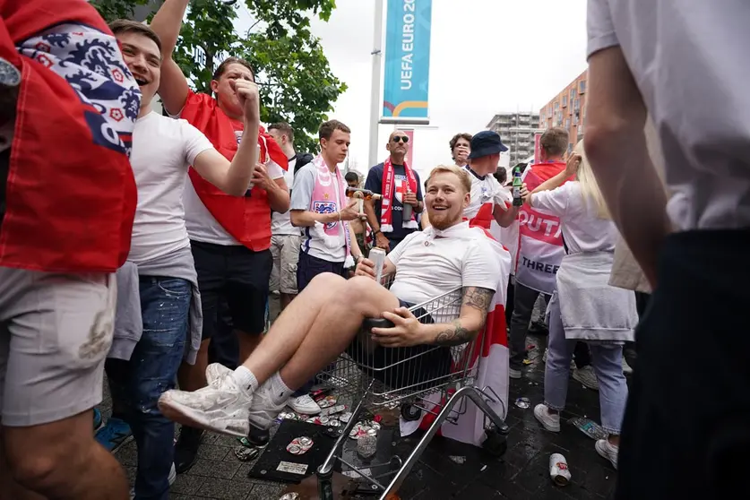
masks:
<instances>
[{"instance_id":1,"label":"black bottoms of the grey-shirted person in right foreground","mask_svg":"<svg viewBox=\"0 0 750 500\"><path fill-rule=\"evenodd\" d=\"M750 448L750 230L669 236L635 332L616 499L739 498Z\"/></svg>"}]
</instances>

